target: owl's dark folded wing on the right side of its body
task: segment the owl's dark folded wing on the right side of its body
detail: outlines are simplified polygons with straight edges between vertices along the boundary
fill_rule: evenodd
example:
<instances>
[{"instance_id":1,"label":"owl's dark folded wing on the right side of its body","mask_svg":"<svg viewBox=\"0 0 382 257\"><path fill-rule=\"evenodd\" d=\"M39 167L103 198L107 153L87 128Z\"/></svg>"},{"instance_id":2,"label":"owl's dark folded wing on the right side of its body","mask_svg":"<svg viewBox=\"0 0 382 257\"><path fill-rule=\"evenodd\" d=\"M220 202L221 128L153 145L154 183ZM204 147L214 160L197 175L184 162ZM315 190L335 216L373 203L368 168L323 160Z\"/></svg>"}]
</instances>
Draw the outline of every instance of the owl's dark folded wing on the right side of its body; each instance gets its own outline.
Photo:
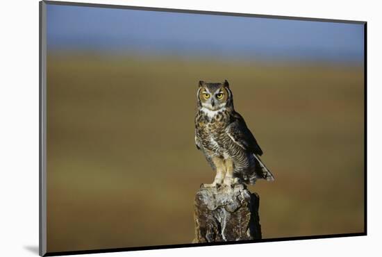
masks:
<instances>
[{"instance_id":1,"label":"owl's dark folded wing on the right side of its body","mask_svg":"<svg viewBox=\"0 0 382 257\"><path fill-rule=\"evenodd\" d=\"M249 131L244 119L238 113L236 113L235 118L235 122L232 122L226 128L226 133L231 140L251 153L257 154L258 156L263 155L263 150L261 150L254 135Z\"/></svg>"}]
</instances>

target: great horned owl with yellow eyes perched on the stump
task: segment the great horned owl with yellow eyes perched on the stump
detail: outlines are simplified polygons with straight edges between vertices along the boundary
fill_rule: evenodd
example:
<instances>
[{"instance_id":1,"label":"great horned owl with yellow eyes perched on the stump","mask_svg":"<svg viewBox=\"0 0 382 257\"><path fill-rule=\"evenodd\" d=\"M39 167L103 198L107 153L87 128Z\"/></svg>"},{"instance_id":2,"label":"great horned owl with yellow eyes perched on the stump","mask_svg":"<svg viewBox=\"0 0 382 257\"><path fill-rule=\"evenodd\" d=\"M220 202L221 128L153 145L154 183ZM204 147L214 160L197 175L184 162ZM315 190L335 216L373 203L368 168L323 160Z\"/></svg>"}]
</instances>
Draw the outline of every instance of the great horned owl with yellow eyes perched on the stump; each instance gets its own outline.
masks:
<instances>
[{"instance_id":1,"label":"great horned owl with yellow eyes perched on the stump","mask_svg":"<svg viewBox=\"0 0 382 257\"><path fill-rule=\"evenodd\" d=\"M228 81L199 81L195 144L216 171L215 180L204 187L254 184L257 179L274 181L261 162L263 151L244 119L233 108L233 95Z\"/></svg>"}]
</instances>

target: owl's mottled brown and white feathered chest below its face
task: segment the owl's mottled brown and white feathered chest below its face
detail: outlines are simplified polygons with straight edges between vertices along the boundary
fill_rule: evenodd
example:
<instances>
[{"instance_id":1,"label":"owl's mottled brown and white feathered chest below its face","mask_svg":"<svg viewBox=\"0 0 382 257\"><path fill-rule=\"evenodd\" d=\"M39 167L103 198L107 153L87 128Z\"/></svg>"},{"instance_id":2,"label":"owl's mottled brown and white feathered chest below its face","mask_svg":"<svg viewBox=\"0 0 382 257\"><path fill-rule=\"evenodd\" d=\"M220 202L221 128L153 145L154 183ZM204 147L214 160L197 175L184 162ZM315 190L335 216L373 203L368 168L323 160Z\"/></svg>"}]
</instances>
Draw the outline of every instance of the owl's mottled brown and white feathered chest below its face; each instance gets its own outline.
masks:
<instances>
[{"instance_id":1,"label":"owl's mottled brown and white feathered chest below its face","mask_svg":"<svg viewBox=\"0 0 382 257\"><path fill-rule=\"evenodd\" d=\"M216 111L212 114L198 110L195 129L197 139L205 151L214 155L224 155L225 144L229 140L226 127L229 126L230 120L229 110Z\"/></svg>"}]
</instances>

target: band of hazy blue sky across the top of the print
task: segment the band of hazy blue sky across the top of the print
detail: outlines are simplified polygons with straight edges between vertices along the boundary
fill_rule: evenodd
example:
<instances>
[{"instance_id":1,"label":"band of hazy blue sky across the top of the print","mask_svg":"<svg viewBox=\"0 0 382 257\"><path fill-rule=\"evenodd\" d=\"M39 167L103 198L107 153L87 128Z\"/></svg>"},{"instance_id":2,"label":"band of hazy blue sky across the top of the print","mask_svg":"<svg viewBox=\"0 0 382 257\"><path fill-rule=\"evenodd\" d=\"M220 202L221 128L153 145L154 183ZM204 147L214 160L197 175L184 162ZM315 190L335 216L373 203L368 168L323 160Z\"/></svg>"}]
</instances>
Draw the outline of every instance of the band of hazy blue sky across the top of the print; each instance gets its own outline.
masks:
<instances>
[{"instance_id":1,"label":"band of hazy blue sky across the top of the print","mask_svg":"<svg viewBox=\"0 0 382 257\"><path fill-rule=\"evenodd\" d=\"M47 6L50 50L359 62L363 25Z\"/></svg>"}]
</instances>

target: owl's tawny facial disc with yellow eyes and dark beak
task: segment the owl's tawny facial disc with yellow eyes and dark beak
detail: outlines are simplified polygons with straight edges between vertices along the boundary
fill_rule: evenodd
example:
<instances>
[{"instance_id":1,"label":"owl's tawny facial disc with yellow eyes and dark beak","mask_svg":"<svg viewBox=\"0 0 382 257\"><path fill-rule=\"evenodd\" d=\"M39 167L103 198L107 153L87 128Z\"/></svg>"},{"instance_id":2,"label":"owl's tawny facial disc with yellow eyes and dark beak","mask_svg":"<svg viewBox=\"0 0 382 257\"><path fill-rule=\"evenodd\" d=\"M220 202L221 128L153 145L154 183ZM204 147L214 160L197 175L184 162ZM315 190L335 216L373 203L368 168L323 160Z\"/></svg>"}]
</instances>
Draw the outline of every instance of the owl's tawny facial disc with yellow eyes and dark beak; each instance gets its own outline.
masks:
<instances>
[{"instance_id":1,"label":"owl's tawny facial disc with yellow eyes and dark beak","mask_svg":"<svg viewBox=\"0 0 382 257\"><path fill-rule=\"evenodd\" d=\"M220 110L226 106L228 92L224 87L216 90L203 87L199 91L201 106L208 110Z\"/></svg>"}]
</instances>

